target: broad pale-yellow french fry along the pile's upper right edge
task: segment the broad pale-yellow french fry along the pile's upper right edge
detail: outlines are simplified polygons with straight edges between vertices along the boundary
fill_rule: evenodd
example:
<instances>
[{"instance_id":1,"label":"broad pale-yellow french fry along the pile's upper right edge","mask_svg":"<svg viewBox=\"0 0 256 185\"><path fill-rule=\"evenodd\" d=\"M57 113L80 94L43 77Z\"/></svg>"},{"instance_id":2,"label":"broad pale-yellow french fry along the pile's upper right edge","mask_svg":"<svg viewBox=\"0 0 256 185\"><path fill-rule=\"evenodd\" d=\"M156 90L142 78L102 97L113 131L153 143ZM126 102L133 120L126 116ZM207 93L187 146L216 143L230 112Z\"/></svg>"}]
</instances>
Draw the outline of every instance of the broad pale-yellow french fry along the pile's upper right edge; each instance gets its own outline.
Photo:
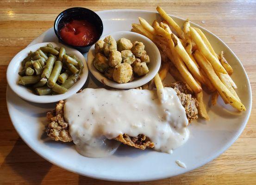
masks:
<instances>
[{"instance_id":1,"label":"broad pale-yellow french fry along the pile's upper right edge","mask_svg":"<svg viewBox=\"0 0 256 185\"><path fill-rule=\"evenodd\" d=\"M219 60L216 58L215 53L212 55L210 50L207 48L206 44L200 37L200 35L195 31L194 28L190 27L190 35L193 41L196 43L197 49L206 57L206 59L212 64L215 71L219 73L227 74L225 68L220 64Z\"/></svg>"}]
</instances>

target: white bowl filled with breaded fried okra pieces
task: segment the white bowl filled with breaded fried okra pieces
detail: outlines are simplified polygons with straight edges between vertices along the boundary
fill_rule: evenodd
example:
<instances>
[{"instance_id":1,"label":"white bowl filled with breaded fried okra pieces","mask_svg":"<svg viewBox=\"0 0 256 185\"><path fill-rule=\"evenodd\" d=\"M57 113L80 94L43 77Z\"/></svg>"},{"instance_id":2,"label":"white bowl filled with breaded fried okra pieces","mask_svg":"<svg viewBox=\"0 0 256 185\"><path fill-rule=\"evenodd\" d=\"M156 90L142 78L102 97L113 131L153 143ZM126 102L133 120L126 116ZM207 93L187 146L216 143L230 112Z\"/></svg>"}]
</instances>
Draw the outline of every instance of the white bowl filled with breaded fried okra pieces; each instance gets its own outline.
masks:
<instances>
[{"instance_id":1,"label":"white bowl filled with breaded fried okra pieces","mask_svg":"<svg viewBox=\"0 0 256 185\"><path fill-rule=\"evenodd\" d=\"M131 89L154 78L161 65L156 45L147 37L118 31L100 38L88 52L94 77L107 86Z\"/></svg>"}]
</instances>

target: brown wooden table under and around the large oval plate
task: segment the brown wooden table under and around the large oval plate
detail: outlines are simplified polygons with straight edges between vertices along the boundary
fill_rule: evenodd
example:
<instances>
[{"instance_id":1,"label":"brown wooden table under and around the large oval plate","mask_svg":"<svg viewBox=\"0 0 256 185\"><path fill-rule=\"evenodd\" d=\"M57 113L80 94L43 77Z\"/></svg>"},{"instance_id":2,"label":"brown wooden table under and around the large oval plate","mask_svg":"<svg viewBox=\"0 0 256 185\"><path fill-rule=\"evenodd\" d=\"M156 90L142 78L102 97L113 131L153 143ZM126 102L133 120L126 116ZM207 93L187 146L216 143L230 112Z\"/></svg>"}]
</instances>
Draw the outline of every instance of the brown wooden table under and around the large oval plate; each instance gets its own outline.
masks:
<instances>
[{"instance_id":1,"label":"brown wooden table under and around the large oval plate","mask_svg":"<svg viewBox=\"0 0 256 185\"><path fill-rule=\"evenodd\" d=\"M25 1L25 2L24 2ZM12 57L53 26L59 12L82 6L94 11L162 6L219 36L236 53L256 92L256 1L233 0L1 0L0 1L0 184L256 184L256 103L239 139L217 159L192 172L146 183L115 183L63 170L33 152L12 126L6 108L6 68Z\"/></svg>"}]
</instances>

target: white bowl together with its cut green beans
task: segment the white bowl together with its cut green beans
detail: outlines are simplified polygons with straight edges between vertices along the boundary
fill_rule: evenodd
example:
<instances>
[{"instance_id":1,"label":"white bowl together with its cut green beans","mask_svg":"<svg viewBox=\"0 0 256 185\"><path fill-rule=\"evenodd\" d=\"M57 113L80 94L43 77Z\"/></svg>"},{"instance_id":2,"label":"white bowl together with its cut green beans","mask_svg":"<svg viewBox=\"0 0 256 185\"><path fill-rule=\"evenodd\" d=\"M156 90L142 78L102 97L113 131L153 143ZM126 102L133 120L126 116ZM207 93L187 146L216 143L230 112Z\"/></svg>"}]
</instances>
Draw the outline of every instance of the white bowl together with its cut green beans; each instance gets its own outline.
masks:
<instances>
[{"instance_id":1,"label":"white bowl together with its cut green beans","mask_svg":"<svg viewBox=\"0 0 256 185\"><path fill-rule=\"evenodd\" d=\"M6 72L12 91L35 103L67 99L81 89L87 76L84 56L61 43L38 43L23 49Z\"/></svg>"}]
</instances>

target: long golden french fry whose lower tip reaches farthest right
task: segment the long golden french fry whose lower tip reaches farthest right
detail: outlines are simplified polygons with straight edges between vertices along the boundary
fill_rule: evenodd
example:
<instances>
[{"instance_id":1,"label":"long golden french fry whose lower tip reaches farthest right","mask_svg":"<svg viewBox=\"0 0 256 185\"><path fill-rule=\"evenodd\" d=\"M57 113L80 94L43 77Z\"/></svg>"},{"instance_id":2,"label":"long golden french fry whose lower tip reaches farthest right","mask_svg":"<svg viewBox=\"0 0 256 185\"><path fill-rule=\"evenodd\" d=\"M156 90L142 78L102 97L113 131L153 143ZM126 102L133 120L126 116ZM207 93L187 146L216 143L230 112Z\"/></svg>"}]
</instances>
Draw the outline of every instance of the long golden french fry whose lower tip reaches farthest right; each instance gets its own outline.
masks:
<instances>
[{"instance_id":1,"label":"long golden french fry whose lower tip reaches farthest right","mask_svg":"<svg viewBox=\"0 0 256 185\"><path fill-rule=\"evenodd\" d=\"M199 52L199 50L196 50L194 52L194 57L198 62L199 66L205 71L208 78L211 80L212 85L215 86L219 94L222 95L221 97L223 97L224 95L225 98L228 100L229 104L232 107L236 108L238 111L246 111L245 106L239 100L237 100L237 98L229 91L229 89L219 79L214 69L212 68L211 63L206 60L205 56L203 56Z\"/></svg>"}]
</instances>

